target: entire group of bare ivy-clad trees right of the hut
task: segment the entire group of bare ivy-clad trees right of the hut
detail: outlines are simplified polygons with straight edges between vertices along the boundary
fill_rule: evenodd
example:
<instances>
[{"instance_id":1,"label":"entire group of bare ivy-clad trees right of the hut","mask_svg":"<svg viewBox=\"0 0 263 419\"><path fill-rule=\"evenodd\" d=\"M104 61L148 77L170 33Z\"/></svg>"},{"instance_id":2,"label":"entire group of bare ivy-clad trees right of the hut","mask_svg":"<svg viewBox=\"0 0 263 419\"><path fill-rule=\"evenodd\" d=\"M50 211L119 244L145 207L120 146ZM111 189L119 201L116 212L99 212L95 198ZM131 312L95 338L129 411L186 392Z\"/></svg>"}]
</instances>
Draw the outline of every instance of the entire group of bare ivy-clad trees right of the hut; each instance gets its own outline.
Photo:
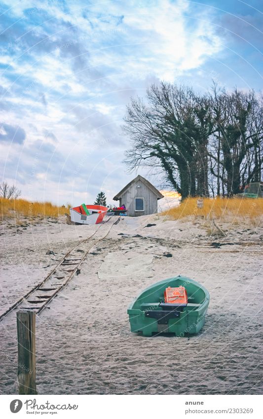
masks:
<instances>
[{"instance_id":1,"label":"entire group of bare ivy-clad trees right of the hut","mask_svg":"<svg viewBox=\"0 0 263 419\"><path fill-rule=\"evenodd\" d=\"M200 95L161 83L146 99L132 99L124 117L131 170L160 168L183 198L230 196L261 181L263 100L253 90L227 92L214 83L211 93Z\"/></svg>"}]
</instances>

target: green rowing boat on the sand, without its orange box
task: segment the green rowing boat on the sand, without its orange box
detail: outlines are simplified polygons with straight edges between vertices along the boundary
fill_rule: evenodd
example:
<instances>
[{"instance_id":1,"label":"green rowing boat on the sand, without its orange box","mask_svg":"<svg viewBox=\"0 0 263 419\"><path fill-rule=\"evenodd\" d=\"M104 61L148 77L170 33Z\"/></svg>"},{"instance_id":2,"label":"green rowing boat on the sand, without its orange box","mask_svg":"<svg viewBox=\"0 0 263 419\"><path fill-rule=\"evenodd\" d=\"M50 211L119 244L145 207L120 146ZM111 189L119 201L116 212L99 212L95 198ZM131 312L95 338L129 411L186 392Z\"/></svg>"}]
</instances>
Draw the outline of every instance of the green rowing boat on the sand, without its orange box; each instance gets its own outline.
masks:
<instances>
[{"instance_id":1,"label":"green rowing boat on the sand, without its orange box","mask_svg":"<svg viewBox=\"0 0 263 419\"><path fill-rule=\"evenodd\" d=\"M164 302L165 289L180 285L187 290L188 305L180 312L174 311L174 317L163 318L164 311L159 304ZM144 290L129 306L131 332L142 332L143 336L161 332L173 333L178 337L196 334L204 326L209 299L209 292L190 278L177 276L159 281Z\"/></svg>"}]
</instances>

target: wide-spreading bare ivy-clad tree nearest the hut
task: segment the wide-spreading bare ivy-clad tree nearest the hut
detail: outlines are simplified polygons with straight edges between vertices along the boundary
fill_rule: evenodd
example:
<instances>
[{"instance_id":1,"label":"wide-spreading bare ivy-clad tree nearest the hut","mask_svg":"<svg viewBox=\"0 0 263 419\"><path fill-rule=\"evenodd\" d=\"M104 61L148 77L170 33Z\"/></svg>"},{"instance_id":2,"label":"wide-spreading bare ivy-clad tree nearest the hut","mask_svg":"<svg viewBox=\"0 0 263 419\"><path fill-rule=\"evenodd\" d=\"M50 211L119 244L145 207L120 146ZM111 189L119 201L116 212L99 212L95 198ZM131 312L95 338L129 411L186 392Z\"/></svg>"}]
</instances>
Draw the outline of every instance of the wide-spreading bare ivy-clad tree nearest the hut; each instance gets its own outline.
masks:
<instances>
[{"instance_id":1,"label":"wide-spreading bare ivy-clad tree nearest the hut","mask_svg":"<svg viewBox=\"0 0 263 419\"><path fill-rule=\"evenodd\" d=\"M187 86L161 83L147 91L148 105L132 99L123 127L132 140L131 169L161 167L183 197L208 194L207 144L212 132L210 99Z\"/></svg>"}]
</instances>

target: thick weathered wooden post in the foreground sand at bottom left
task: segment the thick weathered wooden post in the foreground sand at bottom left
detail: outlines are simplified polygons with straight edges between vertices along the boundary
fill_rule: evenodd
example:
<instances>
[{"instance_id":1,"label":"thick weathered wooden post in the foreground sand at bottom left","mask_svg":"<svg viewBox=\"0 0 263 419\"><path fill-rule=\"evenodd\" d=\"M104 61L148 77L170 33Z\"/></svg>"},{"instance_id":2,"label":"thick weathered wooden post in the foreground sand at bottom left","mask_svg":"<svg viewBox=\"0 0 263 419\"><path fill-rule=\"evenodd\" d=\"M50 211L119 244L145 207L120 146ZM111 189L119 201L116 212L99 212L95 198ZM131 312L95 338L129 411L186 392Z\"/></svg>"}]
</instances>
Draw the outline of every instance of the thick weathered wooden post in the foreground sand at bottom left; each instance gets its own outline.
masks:
<instances>
[{"instance_id":1,"label":"thick weathered wooden post in the foreground sand at bottom left","mask_svg":"<svg viewBox=\"0 0 263 419\"><path fill-rule=\"evenodd\" d=\"M18 394L37 394L36 387L36 313L16 314L18 342Z\"/></svg>"}]
</instances>

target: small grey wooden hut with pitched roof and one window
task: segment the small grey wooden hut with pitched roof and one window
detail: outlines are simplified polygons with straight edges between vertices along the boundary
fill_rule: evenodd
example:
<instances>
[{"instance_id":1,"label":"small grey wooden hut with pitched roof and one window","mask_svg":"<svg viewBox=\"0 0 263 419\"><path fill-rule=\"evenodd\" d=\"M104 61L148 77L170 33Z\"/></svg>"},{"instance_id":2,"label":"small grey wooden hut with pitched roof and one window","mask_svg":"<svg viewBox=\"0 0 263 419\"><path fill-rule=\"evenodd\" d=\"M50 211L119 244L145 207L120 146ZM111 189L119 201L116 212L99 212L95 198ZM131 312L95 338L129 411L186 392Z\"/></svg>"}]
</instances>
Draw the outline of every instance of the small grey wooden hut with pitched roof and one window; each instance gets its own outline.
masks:
<instances>
[{"instance_id":1,"label":"small grey wooden hut with pitched roof and one window","mask_svg":"<svg viewBox=\"0 0 263 419\"><path fill-rule=\"evenodd\" d=\"M138 175L117 193L113 200L119 201L119 206L125 205L127 215L138 217L156 213L157 201L161 198L163 195L148 180Z\"/></svg>"}]
</instances>

